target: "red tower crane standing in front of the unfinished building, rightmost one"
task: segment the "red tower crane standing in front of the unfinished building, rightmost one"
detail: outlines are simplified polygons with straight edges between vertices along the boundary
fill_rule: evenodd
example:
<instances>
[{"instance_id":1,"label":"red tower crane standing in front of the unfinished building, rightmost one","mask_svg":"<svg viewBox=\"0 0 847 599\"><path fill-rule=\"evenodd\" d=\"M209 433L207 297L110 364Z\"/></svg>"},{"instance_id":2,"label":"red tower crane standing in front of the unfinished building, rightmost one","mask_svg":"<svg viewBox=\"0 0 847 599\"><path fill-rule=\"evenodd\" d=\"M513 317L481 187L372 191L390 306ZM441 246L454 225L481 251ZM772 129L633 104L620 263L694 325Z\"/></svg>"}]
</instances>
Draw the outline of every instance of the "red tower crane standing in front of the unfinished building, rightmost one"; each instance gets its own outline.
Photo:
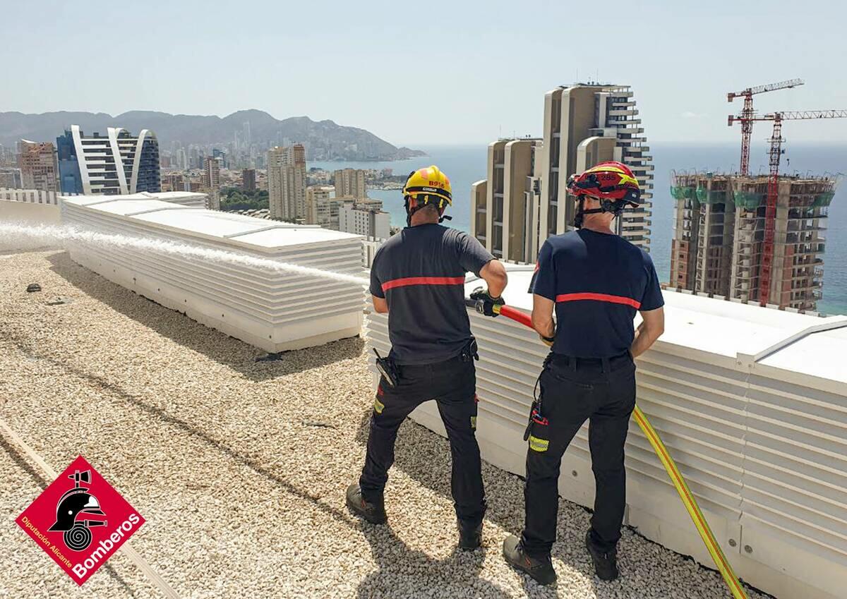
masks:
<instances>
[{"instance_id":1,"label":"red tower crane standing in front of the unfinished building, rightmost one","mask_svg":"<svg viewBox=\"0 0 847 599\"><path fill-rule=\"evenodd\" d=\"M729 117L729 124L733 117ZM736 117L738 118L738 117ZM765 208L765 237L761 247L761 271L759 272L759 303L766 305L771 296L771 270L773 266L773 237L777 223L777 197L779 195L779 161L783 154L783 121L809 120L813 118L847 118L847 110L800 110L767 113L764 116L748 118L750 126L754 121L773 121L773 133L768 165L770 174L767 179L767 204Z\"/></svg>"}]
</instances>

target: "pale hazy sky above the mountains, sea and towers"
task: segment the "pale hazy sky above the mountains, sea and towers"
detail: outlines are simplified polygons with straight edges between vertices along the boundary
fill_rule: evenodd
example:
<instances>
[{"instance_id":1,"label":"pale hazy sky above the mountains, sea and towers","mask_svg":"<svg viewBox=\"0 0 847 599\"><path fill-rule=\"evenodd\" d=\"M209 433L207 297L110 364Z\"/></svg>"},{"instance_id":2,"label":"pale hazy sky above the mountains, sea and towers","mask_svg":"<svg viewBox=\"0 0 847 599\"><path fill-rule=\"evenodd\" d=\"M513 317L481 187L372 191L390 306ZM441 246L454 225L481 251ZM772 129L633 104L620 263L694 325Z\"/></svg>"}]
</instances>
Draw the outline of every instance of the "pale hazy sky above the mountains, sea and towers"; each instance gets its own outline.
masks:
<instances>
[{"instance_id":1,"label":"pale hazy sky above the mountains, sea and towers","mask_svg":"<svg viewBox=\"0 0 847 599\"><path fill-rule=\"evenodd\" d=\"M761 112L847 108L843 2L19 2L0 0L0 111L127 110L368 129L395 144L538 135L545 91L632 85L650 140L735 142L726 93ZM770 127L760 124L754 138ZM789 123L847 140L847 119Z\"/></svg>"}]
</instances>

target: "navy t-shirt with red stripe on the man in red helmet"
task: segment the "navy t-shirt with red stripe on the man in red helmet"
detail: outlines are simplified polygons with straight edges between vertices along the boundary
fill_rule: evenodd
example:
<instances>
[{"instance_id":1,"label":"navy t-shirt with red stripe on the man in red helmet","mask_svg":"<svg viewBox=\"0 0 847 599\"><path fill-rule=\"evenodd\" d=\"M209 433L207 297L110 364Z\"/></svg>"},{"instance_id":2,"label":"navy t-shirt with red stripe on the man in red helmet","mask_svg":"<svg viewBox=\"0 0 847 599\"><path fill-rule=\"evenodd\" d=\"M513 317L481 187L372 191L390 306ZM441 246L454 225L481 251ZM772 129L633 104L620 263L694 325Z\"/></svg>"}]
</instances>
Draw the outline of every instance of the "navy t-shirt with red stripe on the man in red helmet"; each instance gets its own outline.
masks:
<instances>
[{"instance_id":1,"label":"navy t-shirt with red stripe on the man in red helmet","mask_svg":"<svg viewBox=\"0 0 847 599\"><path fill-rule=\"evenodd\" d=\"M611 358L635 338L636 310L664 305L650 254L581 228L547 239L529 291L556 302L556 354Z\"/></svg>"}]
</instances>

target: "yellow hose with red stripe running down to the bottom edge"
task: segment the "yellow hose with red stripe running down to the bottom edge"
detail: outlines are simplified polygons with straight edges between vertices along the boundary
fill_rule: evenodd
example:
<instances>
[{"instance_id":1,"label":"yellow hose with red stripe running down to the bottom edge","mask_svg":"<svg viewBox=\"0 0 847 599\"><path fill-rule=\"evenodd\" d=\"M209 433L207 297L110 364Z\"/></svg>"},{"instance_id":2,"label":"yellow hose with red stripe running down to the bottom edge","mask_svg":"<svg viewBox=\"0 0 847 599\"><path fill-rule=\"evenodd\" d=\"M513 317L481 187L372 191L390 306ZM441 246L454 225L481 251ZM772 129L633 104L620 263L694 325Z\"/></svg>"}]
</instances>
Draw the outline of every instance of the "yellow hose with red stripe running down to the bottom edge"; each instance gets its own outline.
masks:
<instances>
[{"instance_id":1,"label":"yellow hose with red stripe running down to the bottom edge","mask_svg":"<svg viewBox=\"0 0 847 599\"><path fill-rule=\"evenodd\" d=\"M667 475L671 477L673 486L676 487L679 497L683 500L685 509L688 510L689 516L691 516L691 521L694 522L694 525L697 527L697 532L700 533L700 538L703 539L704 543L706 543L706 549L708 549L717 569L720 570L723 580L729 587L729 591L732 592L734 599L748 599L744 588L739 582L738 576L735 575L733 567L729 565L726 556L723 555L721 546L717 544L715 536L711 534L711 529L709 528L709 524L706 522L706 517L700 511L700 506L697 505L694 495L685 483L685 479L683 478L683 475L680 474L677 464L675 464L673 458L671 458L671 454L667 453L667 448L662 442L662 439L659 438L656 429L650 425L650 420L647 420L647 416L644 415L644 412L642 412L637 405L635 406L633 415L635 416L635 421L638 422L641 427L641 430L644 431L647 440L650 441L650 445L652 445L653 449L656 451L656 455L659 456L659 459L662 461L662 465L665 467L665 470L667 470Z\"/></svg>"}]
</instances>

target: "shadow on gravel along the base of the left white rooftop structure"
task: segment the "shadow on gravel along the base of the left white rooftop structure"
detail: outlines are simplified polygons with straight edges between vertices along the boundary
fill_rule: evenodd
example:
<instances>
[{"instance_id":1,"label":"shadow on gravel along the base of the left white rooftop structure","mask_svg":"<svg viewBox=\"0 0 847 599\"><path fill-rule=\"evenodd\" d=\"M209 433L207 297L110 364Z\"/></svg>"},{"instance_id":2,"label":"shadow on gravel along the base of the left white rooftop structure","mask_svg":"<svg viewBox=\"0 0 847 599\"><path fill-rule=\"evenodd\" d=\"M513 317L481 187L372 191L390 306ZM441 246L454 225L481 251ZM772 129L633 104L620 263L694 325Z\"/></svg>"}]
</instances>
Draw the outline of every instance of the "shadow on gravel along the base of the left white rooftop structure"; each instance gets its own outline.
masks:
<instances>
[{"instance_id":1,"label":"shadow on gravel along the base of the left white rooftop structure","mask_svg":"<svg viewBox=\"0 0 847 599\"><path fill-rule=\"evenodd\" d=\"M347 338L314 348L279 354L274 360L256 361L265 352L224 332L192 321L183 313L158 305L152 299L125 289L96 272L80 267L67 252L47 256L50 270L86 295L180 345L193 349L241 373L253 382L320 368L362 354L362 338Z\"/></svg>"}]
</instances>

